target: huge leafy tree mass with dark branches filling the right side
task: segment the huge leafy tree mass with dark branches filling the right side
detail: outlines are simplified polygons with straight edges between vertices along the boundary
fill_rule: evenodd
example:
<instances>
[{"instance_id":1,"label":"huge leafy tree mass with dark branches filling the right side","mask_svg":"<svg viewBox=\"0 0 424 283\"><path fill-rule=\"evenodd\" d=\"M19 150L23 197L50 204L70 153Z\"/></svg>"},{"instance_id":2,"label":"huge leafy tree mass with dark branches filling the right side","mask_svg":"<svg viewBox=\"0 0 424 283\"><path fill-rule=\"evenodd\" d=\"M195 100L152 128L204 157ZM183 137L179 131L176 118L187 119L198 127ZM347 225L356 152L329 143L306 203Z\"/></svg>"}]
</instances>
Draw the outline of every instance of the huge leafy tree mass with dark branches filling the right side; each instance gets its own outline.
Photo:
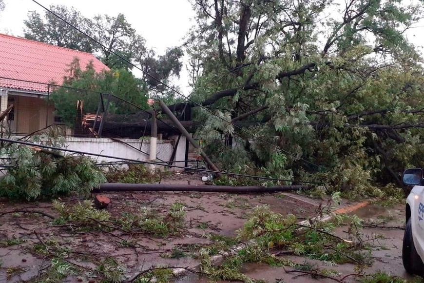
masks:
<instances>
[{"instance_id":1,"label":"huge leafy tree mass with dark branches filling the right side","mask_svg":"<svg viewBox=\"0 0 424 283\"><path fill-rule=\"evenodd\" d=\"M193 99L227 120L257 111L249 131L271 144L198 110L198 134L226 169L325 182L354 197L381 195L376 183L402 186L406 167L423 167L422 57L405 36L422 2L192 4ZM216 142L220 133L232 149Z\"/></svg>"}]
</instances>

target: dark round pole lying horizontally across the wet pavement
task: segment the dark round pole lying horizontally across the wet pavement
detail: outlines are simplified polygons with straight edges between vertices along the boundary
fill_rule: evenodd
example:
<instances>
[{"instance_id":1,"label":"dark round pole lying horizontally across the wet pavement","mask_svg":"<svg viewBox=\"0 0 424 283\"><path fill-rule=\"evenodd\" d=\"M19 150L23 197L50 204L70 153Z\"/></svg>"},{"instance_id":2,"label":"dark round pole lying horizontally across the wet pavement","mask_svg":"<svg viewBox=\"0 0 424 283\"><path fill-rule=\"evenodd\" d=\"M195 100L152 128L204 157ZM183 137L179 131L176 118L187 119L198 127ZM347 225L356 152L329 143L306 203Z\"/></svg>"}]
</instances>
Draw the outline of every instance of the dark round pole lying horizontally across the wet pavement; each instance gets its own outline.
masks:
<instances>
[{"instance_id":1,"label":"dark round pole lying horizontally across the wet pavement","mask_svg":"<svg viewBox=\"0 0 424 283\"><path fill-rule=\"evenodd\" d=\"M214 186L214 185L172 185L172 184L124 184L104 183L93 192L228 192L228 193L273 193L309 189L309 185L295 186Z\"/></svg>"}]
</instances>

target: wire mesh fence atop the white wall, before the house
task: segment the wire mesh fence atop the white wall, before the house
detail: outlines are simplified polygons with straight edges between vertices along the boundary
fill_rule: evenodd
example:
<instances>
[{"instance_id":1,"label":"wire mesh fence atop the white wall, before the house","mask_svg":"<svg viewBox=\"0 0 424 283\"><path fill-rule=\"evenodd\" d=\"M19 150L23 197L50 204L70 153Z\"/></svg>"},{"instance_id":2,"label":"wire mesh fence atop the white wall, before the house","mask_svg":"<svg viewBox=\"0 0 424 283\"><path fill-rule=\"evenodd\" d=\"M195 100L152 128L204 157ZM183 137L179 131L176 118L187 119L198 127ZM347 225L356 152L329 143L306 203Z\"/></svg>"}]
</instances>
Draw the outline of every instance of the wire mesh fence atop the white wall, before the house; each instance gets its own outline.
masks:
<instances>
[{"instance_id":1,"label":"wire mesh fence atop the white wall, before the house","mask_svg":"<svg viewBox=\"0 0 424 283\"><path fill-rule=\"evenodd\" d=\"M57 132L59 135L110 138L125 143L144 154L145 159L149 158L155 117L156 159L175 160L180 133L172 122L153 117L153 108L145 109L110 93L0 77L0 106L0 114L5 114L3 137L47 132L54 125L55 129L62 129Z\"/></svg>"}]
</instances>

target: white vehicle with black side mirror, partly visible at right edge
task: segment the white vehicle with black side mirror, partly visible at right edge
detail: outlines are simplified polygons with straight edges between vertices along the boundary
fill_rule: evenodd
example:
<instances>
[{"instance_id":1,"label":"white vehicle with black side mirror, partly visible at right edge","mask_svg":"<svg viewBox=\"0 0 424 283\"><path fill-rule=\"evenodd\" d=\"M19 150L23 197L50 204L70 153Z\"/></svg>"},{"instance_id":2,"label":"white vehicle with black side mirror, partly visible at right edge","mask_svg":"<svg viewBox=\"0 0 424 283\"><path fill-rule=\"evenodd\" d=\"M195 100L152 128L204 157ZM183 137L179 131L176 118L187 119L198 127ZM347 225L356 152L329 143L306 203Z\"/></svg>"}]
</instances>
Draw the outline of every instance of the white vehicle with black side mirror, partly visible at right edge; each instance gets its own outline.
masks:
<instances>
[{"instance_id":1,"label":"white vehicle with black side mirror, partly visible at right edge","mask_svg":"<svg viewBox=\"0 0 424 283\"><path fill-rule=\"evenodd\" d=\"M406 226L402 261L408 273L424 275L424 179L423 169L406 169L403 181L413 185L406 199Z\"/></svg>"}]
</instances>

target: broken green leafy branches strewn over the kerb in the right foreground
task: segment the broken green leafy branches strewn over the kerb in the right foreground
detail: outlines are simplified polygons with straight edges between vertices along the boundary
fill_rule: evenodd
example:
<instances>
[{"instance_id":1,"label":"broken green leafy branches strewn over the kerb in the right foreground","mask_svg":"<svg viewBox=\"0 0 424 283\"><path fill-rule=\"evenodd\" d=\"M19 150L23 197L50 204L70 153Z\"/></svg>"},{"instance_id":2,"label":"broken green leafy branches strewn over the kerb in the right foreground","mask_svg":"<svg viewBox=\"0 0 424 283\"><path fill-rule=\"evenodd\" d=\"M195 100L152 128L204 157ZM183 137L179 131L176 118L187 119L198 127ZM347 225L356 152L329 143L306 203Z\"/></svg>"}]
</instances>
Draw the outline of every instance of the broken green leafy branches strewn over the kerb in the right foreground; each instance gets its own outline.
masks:
<instances>
[{"instance_id":1,"label":"broken green leafy branches strewn over the kerb in the right foreground","mask_svg":"<svg viewBox=\"0 0 424 283\"><path fill-rule=\"evenodd\" d=\"M333 194L333 201L340 200L340 194ZM332 204L329 203L329 205ZM362 270L372 263L369 251L361 239L362 220L356 216L337 215L332 222L309 221L308 225L300 225L293 215L283 217L270 211L269 206L257 206L249 214L249 219L237 231L237 241L223 239L222 250L234 250L238 241L244 241L244 248L236 253L230 252L219 265L212 264L211 255L216 251L213 245L200 249L201 271L212 280L237 280L255 282L241 272L244 263L267 263L271 266L291 266L299 270L317 271L315 266L308 264L296 265L288 259L276 257L271 252L287 251L288 254L309 257L325 262L327 265L353 263ZM331 234L335 227L347 225L350 237L354 241L345 241ZM213 239L213 235L208 239ZM217 238L219 239L219 237ZM254 241L251 241L254 240ZM221 241L221 240L219 240ZM232 248L230 247L232 246ZM320 274L334 274L332 270L319 270Z\"/></svg>"}]
</instances>

